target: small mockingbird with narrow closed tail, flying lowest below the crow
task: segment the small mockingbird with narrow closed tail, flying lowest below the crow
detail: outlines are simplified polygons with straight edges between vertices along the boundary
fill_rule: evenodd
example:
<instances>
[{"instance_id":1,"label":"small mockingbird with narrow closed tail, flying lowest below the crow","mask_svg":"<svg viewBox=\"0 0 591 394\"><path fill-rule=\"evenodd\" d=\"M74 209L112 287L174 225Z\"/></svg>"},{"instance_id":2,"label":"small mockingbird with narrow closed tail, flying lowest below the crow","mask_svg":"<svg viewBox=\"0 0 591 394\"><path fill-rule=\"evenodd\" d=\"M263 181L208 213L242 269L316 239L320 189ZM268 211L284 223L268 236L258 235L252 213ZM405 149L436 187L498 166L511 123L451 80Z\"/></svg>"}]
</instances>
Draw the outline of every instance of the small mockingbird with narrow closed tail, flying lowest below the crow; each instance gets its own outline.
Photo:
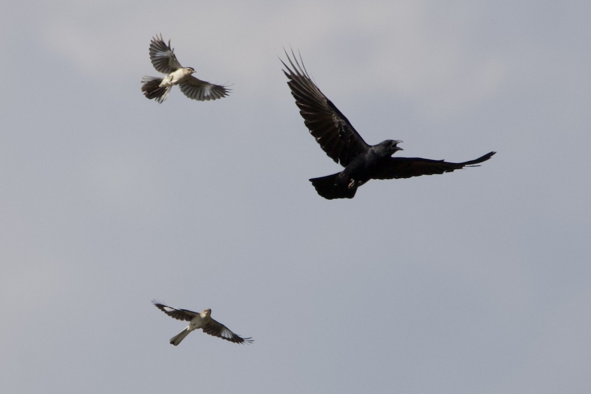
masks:
<instances>
[{"instance_id":1,"label":"small mockingbird with narrow closed tail, flying lowest below the crow","mask_svg":"<svg viewBox=\"0 0 591 394\"><path fill-rule=\"evenodd\" d=\"M171 308L155 300L152 300L152 304L156 305L158 309L172 318L189 321L187 328L178 333L178 335L170 338L170 343L174 346L177 346L179 343L181 343L181 341L187 335L189 335L191 331L197 330L197 328L201 328L206 334L213 335L214 337L219 337L233 343L251 343L254 341L252 338L242 338L241 336L232 333L228 327L213 320L212 310L209 308L199 313L187 311L186 309Z\"/></svg>"}]
</instances>

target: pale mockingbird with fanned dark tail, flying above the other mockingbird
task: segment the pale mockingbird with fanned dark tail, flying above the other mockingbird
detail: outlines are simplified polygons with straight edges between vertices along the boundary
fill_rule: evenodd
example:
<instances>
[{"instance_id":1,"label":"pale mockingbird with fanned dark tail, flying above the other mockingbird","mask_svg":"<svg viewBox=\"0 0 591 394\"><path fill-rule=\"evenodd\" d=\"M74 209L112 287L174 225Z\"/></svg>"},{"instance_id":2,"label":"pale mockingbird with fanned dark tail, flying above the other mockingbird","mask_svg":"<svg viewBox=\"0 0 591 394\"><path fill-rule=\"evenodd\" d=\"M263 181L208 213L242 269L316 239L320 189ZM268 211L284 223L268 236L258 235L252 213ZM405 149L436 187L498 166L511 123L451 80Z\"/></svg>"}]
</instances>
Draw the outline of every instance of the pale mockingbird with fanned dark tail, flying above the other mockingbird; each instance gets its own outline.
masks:
<instances>
[{"instance_id":1,"label":"pale mockingbird with fanned dark tail, flying above the other mockingbird","mask_svg":"<svg viewBox=\"0 0 591 394\"><path fill-rule=\"evenodd\" d=\"M152 38L150 43L150 60L154 69L163 74L161 77L142 77L142 92L148 99L156 99L162 103L168 97L168 93L174 85L180 87L185 96L193 100L215 100L227 96L229 89L226 86L216 85L197 79L192 74L195 72L193 67L183 67L178 63L174 55L174 48L164 43L162 34Z\"/></svg>"}]
</instances>

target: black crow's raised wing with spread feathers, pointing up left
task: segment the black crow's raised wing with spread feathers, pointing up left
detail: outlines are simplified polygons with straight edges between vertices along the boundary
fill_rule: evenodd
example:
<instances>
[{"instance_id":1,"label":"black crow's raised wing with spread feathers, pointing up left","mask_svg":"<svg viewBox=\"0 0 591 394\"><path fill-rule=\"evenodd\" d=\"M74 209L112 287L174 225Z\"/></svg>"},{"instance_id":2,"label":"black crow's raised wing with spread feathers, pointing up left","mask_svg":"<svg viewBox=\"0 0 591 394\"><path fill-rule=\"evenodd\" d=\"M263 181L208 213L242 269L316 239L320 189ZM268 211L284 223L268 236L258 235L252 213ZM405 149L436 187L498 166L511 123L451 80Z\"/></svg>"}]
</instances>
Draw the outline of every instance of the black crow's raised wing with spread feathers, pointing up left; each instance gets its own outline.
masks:
<instances>
[{"instance_id":1,"label":"black crow's raised wing with spread feathers, pointing up left","mask_svg":"<svg viewBox=\"0 0 591 394\"><path fill-rule=\"evenodd\" d=\"M293 61L285 51L291 69L284 61L281 60L281 63L287 69L283 72L289 79L287 84L300 108L304 123L324 152L346 167L355 157L366 152L369 145L363 141L345 115L312 82L304 63L300 65L293 51L291 54Z\"/></svg>"}]
</instances>

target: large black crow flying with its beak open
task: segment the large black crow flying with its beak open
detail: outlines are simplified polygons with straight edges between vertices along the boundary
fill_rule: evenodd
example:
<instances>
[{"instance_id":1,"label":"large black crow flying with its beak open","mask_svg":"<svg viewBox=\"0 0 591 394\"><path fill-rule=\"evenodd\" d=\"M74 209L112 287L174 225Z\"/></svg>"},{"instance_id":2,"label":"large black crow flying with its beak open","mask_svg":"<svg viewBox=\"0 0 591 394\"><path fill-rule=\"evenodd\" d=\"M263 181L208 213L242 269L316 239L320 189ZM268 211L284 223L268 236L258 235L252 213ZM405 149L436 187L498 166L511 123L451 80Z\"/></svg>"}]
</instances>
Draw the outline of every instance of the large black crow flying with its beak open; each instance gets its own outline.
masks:
<instances>
[{"instance_id":1,"label":"large black crow flying with its beak open","mask_svg":"<svg viewBox=\"0 0 591 394\"><path fill-rule=\"evenodd\" d=\"M296 99L304 123L316 138L320 147L345 170L326 177L312 178L311 183L320 196L333 198L353 198L357 188L371 179L410 178L419 175L443 174L460 168L481 163L496 152L489 152L475 160L452 163L410 157L392 157L402 141L387 139L377 145L368 145L349 123L345 115L312 82L304 63L293 61L287 51L285 56L291 68L281 60L285 76ZM300 56L301 61L301 56Z\"/></svg>"}]
</instances>

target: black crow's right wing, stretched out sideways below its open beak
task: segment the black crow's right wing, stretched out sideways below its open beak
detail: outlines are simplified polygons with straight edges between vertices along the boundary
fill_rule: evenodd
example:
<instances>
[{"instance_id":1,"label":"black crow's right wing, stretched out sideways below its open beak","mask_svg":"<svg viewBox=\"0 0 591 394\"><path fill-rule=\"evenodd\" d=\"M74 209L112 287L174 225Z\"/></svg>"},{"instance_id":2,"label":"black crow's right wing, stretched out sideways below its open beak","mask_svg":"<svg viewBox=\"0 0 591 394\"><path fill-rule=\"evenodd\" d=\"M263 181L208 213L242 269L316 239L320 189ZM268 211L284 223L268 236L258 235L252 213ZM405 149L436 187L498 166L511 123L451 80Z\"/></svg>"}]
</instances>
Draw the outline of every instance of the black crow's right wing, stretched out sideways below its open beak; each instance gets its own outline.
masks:
<instances>
[{"instance_id":1,"label":"black crow's right wing, stretched out sideways below its open beak","mask_svg":"<svg viewBox=\"0 0 591 394\"><path fill-rule=\"evenodd\" d=\"M465 161L462 163L422 159L418 157L389 157L385 162L385 165L372 174L372 178L410 178L418 177L420 175L443 174L444 172L460 170L460 168L464 168L466 165L474 165L486 161L490 159L495 153L496 152L489 152L478 159Z\"/></svg>"}]
</instances>

